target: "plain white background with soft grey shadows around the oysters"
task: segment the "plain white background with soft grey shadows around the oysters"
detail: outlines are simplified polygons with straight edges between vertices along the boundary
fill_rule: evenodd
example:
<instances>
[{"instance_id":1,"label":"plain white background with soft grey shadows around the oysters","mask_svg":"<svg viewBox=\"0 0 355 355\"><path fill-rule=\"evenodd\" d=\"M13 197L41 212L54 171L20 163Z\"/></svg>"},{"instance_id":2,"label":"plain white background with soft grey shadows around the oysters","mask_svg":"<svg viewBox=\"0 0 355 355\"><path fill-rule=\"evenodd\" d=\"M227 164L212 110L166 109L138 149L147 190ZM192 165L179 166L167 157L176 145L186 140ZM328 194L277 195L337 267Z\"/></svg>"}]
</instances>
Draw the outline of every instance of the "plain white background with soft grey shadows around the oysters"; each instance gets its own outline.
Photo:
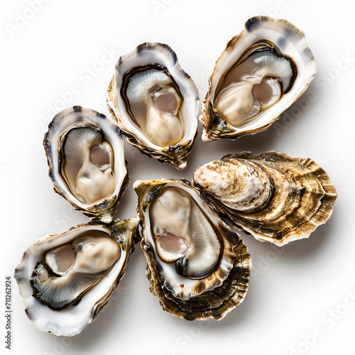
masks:
<instances>
[{"instance_id":1,"label":"plain white background with soft grey shadows around the oysters","mask_svg":"<svg viewBox=\"0 0 355 355\"><path fill-rule=\"evenodd\" d=\"M136 216L135 180L190 179L202 163L245 150L310 157L329 173L339 197L329 222L309 239L277 249L241 234L253 260L249 292L220 322L186 322L163 312L148 291L140 246L107 307L75 339L36 329L13 280L12 354L352 354L354 1L42 0L35 10L31 1L40 0L1 1L3 285L30 244L88 221L53 192L42 146L49 121L74 105L108 115L105 95L116 60L146 41L175 50L202 99L214 62L251 16L286 18L305 31L319 69L309 96L263 133L202 143L199 126L186 170L125 143L132 183L115 217ZM3 341L0 346L2 352Z\"/></svg>"}]
</instances>

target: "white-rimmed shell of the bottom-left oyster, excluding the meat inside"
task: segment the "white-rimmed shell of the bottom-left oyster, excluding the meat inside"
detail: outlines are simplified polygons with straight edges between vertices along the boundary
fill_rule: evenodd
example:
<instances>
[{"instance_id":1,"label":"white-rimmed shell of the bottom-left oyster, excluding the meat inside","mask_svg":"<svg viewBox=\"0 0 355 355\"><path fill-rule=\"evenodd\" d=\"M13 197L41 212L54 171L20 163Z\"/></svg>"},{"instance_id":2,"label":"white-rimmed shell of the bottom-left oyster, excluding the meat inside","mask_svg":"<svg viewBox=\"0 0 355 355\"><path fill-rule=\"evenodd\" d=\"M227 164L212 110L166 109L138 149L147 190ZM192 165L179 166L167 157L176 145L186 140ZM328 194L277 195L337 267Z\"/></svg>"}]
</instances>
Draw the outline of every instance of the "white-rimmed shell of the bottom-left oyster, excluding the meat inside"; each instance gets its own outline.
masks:
<instances>
[{"instance_id":1,"label":"white-rimmed shell of the bottom-left oyster, excluding the meat inside","mask_svg":"<svg viewBox=\"0 0 355 355\"><path fill-rule=\"evenodd\" d=\"M118 244L121 251L119 260L109 268L109 272L89 287L72 305L62 310L52 310L48 305L40 302L33 296L34 271L38 264L43 263L45 255L59 246L67 246L77 238L84 238L87 234L100 233ZM134 251L138 241L138 220L116 220L109 225L81 224L62 234L45 236L30 246L24 253L21 263L15 271L15 278L23 302L26 307L26 315L38 329L51 332L55 335L74 336L78 334L97 317L99 311L106 305L109 296L116 289L119 281L124 276L130 254ZM46 254L47 253L47 254ZM94 265L94 260L101 256L91 255L87 263ZM53 276L56 277L56 276Z\"/></svg>"}]
</instances>

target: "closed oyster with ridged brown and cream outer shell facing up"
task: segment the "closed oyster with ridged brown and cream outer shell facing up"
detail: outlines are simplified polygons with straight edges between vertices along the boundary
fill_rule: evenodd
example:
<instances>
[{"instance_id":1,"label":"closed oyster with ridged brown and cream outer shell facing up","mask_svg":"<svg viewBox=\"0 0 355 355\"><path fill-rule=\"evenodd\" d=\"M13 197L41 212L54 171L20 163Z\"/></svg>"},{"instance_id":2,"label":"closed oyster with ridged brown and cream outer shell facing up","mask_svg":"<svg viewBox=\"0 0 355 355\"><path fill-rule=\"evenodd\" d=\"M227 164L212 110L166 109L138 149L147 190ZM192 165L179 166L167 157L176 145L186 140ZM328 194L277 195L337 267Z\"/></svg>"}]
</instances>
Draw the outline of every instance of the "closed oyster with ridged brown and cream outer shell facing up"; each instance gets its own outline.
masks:
<instances>
[{"instance_id":1,"label":"closed oyster with ridged brown and cream outer shell facing up","mask_svg":"<svg viewBox=\"0 0 355 355\"><path fill-rule=\"evenodd\" d=\"M278 246L310 236L337 198L320 165L278 152L226 155L197 168L192 181L236 228Z\"/></svg>"}]
</instances>

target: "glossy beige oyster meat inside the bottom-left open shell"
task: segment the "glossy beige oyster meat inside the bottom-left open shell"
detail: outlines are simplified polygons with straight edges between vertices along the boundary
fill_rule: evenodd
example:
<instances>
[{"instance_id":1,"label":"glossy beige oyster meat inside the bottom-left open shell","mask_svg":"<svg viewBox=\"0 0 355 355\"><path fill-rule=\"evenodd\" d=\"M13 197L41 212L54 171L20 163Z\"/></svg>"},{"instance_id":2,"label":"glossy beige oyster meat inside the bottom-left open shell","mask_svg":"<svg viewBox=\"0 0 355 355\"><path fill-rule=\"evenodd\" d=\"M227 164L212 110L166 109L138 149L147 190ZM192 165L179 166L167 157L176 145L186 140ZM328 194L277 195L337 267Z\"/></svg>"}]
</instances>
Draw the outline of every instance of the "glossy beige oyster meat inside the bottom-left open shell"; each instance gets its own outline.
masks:
<instances>
[{"instance_id":1,"label":"glossy beige oyster meat inside the bottom-left open shell","mask_svg":"<svg viewBox=\"0 0 355 355\"><path fill-rule=\"evenodd\" d=\"M75 304L97 285L121 258L119 244L96 231L45 253L31 278L33 297L52 310Z\"/></svg>"}]
</instances>

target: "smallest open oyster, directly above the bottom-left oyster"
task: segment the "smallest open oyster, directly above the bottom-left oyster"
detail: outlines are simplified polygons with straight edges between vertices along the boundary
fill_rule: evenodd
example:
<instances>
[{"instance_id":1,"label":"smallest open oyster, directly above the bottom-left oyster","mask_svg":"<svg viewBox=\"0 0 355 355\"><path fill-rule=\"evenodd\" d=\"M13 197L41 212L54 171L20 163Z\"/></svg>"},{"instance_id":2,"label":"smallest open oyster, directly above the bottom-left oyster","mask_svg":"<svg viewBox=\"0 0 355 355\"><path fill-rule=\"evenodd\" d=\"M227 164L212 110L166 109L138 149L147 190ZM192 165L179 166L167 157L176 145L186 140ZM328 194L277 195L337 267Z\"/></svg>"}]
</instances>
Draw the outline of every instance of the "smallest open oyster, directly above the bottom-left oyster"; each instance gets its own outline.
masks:
<instances>
[{"instance_id":1,"label":"smallest open oyster, directly above the bottom-left oyster","mask_svg":"<svg viewBox=\"0 0 355 355\"><path fill-rule=\"evenodd\" d=\"M55 192L87 216L111 222L130 182L119 127L75 106L55 116L43 145Z\"/></svg>"}]
</instances>

